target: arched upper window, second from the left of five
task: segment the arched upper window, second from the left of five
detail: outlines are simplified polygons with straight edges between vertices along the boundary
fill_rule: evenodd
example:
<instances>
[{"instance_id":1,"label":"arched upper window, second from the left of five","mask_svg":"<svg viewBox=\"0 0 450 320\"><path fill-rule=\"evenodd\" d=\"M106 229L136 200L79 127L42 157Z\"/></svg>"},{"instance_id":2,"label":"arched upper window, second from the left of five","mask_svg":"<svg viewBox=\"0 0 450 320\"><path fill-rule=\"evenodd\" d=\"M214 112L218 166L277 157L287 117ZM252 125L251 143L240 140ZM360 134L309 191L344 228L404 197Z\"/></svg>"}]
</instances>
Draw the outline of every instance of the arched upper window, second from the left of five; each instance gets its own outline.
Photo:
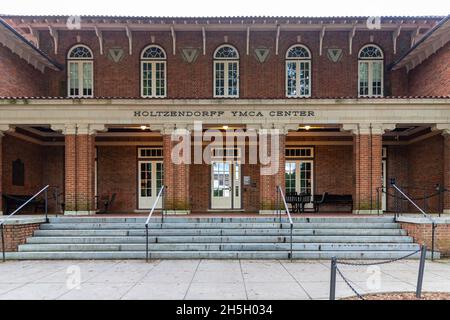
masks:
<instances>
[{"instance_id":1,"label":"arched upper window, second from the left of five","mask_svg":"<svg viewBox=\"0 0 450 320\"><path fill-rule=\"evenodd\" d=\"M141 54L141 96L164 98L166 89L166 52L150 45Z\"/></svg>"}]
</instances>

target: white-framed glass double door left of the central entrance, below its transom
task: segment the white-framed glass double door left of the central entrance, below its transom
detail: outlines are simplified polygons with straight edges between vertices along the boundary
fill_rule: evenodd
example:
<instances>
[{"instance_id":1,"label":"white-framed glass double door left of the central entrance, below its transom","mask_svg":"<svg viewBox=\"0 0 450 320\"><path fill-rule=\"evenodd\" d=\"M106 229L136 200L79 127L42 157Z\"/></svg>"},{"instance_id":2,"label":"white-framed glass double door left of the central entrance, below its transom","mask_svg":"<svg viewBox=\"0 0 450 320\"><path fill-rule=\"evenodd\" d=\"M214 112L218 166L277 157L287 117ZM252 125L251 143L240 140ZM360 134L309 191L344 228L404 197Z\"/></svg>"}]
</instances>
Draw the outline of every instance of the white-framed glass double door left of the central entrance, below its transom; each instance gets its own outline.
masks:
<instances>
[{"instance_id":1,"label":"white-framed glass double door left of the central entrance, below its transom","mask_svg":"<svg viewBox=\"0 0 450 320\"><path fill-rule=\"evenodd\" d=\"M139 161L139 196L138 208L151 209L163 185L162 161ZM162 199L157 208L162 207Z\"/></svg>"}]
</instances>

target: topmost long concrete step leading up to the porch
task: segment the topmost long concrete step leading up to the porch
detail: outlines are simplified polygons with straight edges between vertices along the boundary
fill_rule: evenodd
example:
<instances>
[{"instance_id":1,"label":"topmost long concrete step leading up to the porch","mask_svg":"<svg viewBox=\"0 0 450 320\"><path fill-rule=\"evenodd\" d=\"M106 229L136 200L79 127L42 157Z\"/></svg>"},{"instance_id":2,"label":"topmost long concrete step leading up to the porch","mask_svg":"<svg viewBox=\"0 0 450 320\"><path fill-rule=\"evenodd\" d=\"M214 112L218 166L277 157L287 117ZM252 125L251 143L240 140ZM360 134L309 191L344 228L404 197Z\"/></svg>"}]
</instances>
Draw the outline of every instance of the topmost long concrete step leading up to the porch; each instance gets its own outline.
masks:
<instances>
[{"instance_id":1,"label":"topmost long concrete step leading up to the porch","mask_svg":"<svg viewBox=\"0 0 450 320\"><path fill-rule=\"evenodd\" d=\"M373 216L373 217L303 217L298 214L293 214L292 219L297 223L393 223L393 217ZM147 217L101 217L99 215L93 217L51 217L50 223L142 223L144 224ZM152 217L152 222L159 223L161 217ZM258 216L258 217L164 217L165 222L169 223L265 223L276 222L279 223L279 217L275 216ZM282 221L287 221L286 215L282 216Z\"/></svg>"}]
</instances>

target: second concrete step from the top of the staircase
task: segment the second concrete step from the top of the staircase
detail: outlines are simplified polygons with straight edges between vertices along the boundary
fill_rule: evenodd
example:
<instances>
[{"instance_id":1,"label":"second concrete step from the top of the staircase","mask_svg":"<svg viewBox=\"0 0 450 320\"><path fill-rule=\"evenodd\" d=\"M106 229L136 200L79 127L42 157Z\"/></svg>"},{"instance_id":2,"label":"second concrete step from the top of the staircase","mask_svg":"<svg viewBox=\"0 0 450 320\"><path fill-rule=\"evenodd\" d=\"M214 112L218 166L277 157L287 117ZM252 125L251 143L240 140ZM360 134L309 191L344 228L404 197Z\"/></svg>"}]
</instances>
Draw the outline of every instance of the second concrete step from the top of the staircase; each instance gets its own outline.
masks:
<instances>
[{"instance_id":1,"label":"second concrete step from the top of the staircase","mask_svg":"<svg viewBox=\"0 0 450 320\"><path fill-rule=\"evenodd\" d=\"M149 229L289 229L289 223L151 223ZM294 223L295 229L398 229L397 223ZM48 223L41 230L145 229L140 223Z\"/></svg>"}]
</instances>

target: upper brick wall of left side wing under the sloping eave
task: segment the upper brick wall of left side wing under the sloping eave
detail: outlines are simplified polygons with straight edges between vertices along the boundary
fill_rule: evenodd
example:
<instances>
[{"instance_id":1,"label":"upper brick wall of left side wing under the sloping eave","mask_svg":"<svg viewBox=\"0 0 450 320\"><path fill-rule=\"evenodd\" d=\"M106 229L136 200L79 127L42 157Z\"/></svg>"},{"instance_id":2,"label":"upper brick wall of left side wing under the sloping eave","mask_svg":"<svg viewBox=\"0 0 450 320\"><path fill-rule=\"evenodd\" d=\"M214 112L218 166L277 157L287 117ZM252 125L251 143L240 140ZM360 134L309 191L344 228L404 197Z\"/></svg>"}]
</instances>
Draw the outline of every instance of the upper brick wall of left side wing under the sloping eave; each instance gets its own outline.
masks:
<instances>
[{"instance_id":1,"label":"upper brick wall of left side wing under the sloping eave","mask_svg":"<svg viewBox=\"0 0 450 320\"><path fill-rule=\"evenodd\" d=\"M46 96L47 75L0 45L0 97Z\"/></svg>"}]
</instances>

